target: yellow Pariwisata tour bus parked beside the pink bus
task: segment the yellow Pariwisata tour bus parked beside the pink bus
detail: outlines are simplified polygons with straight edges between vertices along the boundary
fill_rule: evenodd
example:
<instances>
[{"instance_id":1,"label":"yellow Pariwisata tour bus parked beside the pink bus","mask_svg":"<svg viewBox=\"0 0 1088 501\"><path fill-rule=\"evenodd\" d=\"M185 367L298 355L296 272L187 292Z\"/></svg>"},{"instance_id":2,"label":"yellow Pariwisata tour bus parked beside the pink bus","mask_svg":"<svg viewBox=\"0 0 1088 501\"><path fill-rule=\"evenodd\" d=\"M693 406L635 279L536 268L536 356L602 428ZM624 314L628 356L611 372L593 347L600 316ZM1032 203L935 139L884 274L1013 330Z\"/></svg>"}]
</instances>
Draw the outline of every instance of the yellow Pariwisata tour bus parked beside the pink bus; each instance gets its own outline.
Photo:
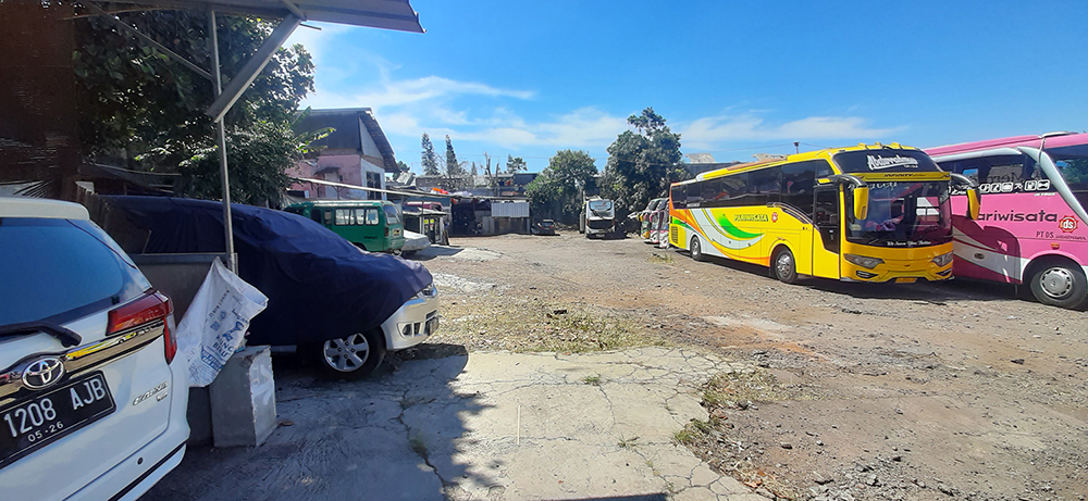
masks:
<instances>
[{"instance_id":1,"label":"yellow Pariwisata tour bus parked beside the pink bus","mask_svg":"<svg viewBox=\"0 0 1088 501\"><path fill-rule=\"evenodd\" d=\"M922 150L858 145L733 165L673 184L669 243L707 255L846 281L937 281L952 276L952 185Z\"/></svg>"}]
</instances>

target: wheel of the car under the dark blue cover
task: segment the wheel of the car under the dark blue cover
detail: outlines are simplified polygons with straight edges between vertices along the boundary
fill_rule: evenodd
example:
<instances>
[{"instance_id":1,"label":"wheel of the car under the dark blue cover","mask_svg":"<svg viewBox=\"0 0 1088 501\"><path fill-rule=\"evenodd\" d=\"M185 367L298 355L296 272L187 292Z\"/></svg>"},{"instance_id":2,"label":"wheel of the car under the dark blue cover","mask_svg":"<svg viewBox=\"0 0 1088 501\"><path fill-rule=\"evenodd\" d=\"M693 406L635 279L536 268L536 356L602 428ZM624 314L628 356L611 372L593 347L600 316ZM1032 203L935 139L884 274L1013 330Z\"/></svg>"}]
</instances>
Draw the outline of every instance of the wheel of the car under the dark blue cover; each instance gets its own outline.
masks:
<instances>
[{"instance_id":1,"label":"wheel of the car under the dark blue cover","mask_svg":"<svg viewBox=\"0 0 1088 501\"><path fill-rule=\"evenodd\" d=\"M361 379L374 373L385 359L381 329L353 334L310 346L310 354L321 372L334 379Z\"/></svg>"}]
</instances>

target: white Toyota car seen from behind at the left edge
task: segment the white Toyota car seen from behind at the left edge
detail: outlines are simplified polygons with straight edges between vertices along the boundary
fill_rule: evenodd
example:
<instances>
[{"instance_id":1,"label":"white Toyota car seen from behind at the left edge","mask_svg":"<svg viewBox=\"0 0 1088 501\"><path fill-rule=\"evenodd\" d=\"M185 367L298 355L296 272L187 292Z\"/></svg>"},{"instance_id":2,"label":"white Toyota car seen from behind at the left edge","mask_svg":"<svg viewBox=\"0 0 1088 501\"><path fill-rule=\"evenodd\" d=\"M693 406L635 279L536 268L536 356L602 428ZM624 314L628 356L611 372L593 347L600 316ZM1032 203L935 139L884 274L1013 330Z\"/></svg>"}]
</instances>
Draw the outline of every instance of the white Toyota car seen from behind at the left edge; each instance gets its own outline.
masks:
<instances>
[{"instance_id":1,"label":"white Toyota car seen from behind at the left edge","mask_svg":"<svg viewBox=\"0 0 1088 501\"><path fill-rule=\"evenodd\" d=\"M170 300L83 205L0 197L4 499L139 498L185 454Z\"/></svg>"}]
</instances>

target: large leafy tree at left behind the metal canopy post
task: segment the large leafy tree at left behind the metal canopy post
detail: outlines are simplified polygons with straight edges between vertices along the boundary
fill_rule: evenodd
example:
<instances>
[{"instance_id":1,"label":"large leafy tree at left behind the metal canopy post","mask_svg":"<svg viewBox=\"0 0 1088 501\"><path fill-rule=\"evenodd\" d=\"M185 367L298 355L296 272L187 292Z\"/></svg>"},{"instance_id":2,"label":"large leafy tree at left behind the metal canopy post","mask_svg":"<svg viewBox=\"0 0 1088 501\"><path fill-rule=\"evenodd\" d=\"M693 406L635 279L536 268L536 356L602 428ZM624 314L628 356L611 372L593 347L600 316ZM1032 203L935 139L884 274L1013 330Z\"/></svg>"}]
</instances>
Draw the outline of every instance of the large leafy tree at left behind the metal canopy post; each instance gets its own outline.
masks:
<instances>
[{"instance_id":1,"label":"large leafy tree at left behind the metal canopy post","mask_svg":"<svg viewBox=\"0 0 1088 501\"><path fill-rule=\"evenodd\" d=\"M206 12L149 10L118 16L183 58L211 67ZM176 171L183 174L182 193L222 197L215 128L203 113L213 99L211 82L144 40L119 32L106 18L81 17L74 23L73 67L84 154L128 168ZM264 18L218 18L224 80L237 74L274 27ZM298 103L311 90L310 54L300 45L281 48L226 114L227 158L232 173L238 172L231 178L237 201L275 202L289 186L285 170L307 149L307 138L314 137L290 129ZM215 168L206 168L212 163Z\"/></svg>"}]
</instances>

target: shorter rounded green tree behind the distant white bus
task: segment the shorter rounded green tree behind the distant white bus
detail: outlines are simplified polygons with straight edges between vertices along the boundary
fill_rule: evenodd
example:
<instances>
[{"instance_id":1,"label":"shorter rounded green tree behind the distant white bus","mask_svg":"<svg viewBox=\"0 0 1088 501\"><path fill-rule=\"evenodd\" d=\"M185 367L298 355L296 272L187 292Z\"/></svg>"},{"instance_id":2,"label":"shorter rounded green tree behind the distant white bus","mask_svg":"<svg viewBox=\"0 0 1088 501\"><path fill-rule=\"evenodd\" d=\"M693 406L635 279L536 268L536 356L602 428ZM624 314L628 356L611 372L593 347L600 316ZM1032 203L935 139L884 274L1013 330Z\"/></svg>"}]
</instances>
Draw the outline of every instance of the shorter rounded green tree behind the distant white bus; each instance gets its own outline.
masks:
<instances>
[{"instance_id":1,"label":"shorter rounded green tree behind the distant white bus","mask_svg":"<svg viewBox=\"0 0 1088 501\"><path fill-rule=\"evenodd\" d=\"M578 221L582 210L579 187L597 174L593 158L584 151L562 150L548 160L547 167L526 187L530 211L566 224Z\"/></svg>"}]
</instances>

